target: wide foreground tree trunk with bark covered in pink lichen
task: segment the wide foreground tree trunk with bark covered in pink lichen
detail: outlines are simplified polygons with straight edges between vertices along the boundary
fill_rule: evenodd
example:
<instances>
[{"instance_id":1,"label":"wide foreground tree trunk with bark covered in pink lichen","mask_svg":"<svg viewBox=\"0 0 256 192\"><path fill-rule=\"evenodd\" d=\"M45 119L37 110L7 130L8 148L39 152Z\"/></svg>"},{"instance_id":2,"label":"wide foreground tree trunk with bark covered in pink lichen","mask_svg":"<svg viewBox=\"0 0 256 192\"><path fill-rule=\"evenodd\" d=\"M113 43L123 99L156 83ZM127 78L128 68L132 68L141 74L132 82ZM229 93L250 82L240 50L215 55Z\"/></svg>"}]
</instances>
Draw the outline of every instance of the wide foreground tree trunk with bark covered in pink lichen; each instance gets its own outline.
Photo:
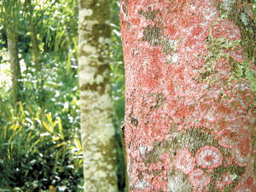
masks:
<instances>
[{"instance_id":1,"label":"wide foreground tree trunk with bark covered in pink lichen","mask_svg":"<svg viewBox=\"0 0 256 192\"><path fill-rule=\"evenodd\" d=\"M254 191L250 1L121 0L120 16L130 191Z\"/></svg>"}]
</instances>

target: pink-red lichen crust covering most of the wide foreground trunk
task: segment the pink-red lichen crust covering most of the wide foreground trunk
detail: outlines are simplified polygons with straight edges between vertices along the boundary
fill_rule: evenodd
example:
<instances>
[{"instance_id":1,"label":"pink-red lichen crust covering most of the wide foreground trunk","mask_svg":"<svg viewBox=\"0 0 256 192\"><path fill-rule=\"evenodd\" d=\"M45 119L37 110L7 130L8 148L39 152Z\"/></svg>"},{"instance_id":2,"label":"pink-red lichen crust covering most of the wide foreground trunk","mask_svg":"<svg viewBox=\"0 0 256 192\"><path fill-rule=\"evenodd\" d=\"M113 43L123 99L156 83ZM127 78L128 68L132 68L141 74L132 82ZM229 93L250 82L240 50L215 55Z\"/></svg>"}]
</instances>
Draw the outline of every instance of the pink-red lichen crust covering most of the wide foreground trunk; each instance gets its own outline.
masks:
<instances>
[{"instance_id":1,"label":"pink-red lichen crust covering most of the wide foreground trunk","mask_svg":"<svg viewBox=\"0 0 256 192\"><path fill-rule=\"evenodd\" d=\"M218 18L214 3L213 0L120 1L127 165L131 183L135 185L139 177L148 182L145 191L167 190L167 173L172 159L168 154L159 154L159 161L144 163L145 154L141 154L137 146L147 148L145 153L148 153L154 149L155 141L171 142L175 138L171 127L185 133L191 127L204 126L207 131L211 130L222 147L232 150L230 160L225 160L227 166L231 165L233 157L238 166L247 165L248 157L241 152L240 136L247 134L252 138L249 132L255 120L251 108L253 92L245 79L225 82L230 77L228 58L220 58L210 71L213 73L208 75L207 60L204 60L207 57L201 56L208 54L211 46L206 44L209 27ZM157 14L149 18L146 12L152 11ZM150 28L154 35L148 41L145 34ZM212 26L212 35L232 41L241 38L239 28L226 19ZM165 46L161 45L163 40L173 45L165 53ZM229 53L234 60L244 61L241 45L231 47ZM173 55L175 61L168 58ZM160 95L163 97L157 98ZM134 117L136 124L132 124ZM251 148L249 150L252 154ZM195 169L195 159L198 166L210 172L222 164L223 156L218 148L209 146L199 149L195 158L188 150L179 149L173 165L184 174L190 174ZM197 172L200 175L202 171ZM207 173L200 176L209 183ZM192 173L190 179L193 180ZM196 179L192 182L198 183ZM207 184L195 185L193 191L208 191Z\"/></svg>"}]
</instances>

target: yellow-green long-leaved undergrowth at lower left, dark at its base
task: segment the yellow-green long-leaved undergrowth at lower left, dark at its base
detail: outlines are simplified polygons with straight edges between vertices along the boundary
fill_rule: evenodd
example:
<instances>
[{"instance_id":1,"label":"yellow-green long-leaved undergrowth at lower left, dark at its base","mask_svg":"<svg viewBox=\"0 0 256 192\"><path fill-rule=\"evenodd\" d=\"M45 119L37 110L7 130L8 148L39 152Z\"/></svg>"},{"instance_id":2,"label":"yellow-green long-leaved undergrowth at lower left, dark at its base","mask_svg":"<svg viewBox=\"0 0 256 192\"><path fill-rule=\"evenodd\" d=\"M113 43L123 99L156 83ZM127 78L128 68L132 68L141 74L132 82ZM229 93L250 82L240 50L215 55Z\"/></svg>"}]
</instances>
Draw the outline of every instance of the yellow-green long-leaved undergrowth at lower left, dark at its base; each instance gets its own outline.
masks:
<instances>
[{"instance_id":1,"label":"yellow-green long-leaved undergrowth at lower left, dark at its base","mask_svg":"<svg viewBox=\"0 0 256 192\"><path fill-rule=\"evenodd\" d=\"M66 186L79 191L82 148L77 133L69 140L61 118L19 102L16 108L0 102L0 187L23 191Z\"/></svg>"}]
</instances>

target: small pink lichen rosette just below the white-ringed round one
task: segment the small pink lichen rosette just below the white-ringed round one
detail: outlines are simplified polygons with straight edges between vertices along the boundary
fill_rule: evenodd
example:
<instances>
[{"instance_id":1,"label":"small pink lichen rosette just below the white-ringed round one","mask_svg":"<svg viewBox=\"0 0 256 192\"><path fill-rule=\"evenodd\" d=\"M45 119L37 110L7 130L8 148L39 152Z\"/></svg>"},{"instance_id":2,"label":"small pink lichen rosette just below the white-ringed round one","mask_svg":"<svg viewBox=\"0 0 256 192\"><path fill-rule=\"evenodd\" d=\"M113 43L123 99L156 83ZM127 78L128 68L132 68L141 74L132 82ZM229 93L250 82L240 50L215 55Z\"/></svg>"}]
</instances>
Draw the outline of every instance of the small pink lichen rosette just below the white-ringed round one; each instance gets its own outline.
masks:
<instances>
[{"instance_id":1,"label":"small pink lichen rosette just below the white-ringed round one","mask_svg":"<svg viewBox=\"0 0 256 192\"><path fill-rule=\"evenodd\" d=\"M195 169L189 173L189 182L194 186L207 186L210 183L211 177L209 177L201 169Z\"/></svg>"}]
</instances>

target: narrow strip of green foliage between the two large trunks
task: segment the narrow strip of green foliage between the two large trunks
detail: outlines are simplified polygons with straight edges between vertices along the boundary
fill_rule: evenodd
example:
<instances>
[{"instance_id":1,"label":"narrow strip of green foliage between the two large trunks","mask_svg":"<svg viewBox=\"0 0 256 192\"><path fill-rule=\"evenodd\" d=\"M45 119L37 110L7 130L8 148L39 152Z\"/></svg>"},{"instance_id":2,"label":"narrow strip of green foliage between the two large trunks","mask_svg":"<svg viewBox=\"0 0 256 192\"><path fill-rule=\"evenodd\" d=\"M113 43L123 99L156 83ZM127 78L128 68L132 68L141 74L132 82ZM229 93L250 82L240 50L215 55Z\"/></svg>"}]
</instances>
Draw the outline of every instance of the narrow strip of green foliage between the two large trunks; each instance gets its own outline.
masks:
<instances>
[{"instance_id":1,"label":"narrow strip of green foliage between the two large trunks","mask_svg":"<svg viewBox=\"0 0 256 192\"><path fill-rule=\"evenodd\" d=\"M120 122L125 116L125 67L123 59L123 47L120 34L119 1L110 1L111 9L111 82L112 99L114 108L114 122L116 128L116 146L118 156L118 184L119 191L125 191L125 143L124 135L119 131Z\"/></svg>"}]
</instances>

